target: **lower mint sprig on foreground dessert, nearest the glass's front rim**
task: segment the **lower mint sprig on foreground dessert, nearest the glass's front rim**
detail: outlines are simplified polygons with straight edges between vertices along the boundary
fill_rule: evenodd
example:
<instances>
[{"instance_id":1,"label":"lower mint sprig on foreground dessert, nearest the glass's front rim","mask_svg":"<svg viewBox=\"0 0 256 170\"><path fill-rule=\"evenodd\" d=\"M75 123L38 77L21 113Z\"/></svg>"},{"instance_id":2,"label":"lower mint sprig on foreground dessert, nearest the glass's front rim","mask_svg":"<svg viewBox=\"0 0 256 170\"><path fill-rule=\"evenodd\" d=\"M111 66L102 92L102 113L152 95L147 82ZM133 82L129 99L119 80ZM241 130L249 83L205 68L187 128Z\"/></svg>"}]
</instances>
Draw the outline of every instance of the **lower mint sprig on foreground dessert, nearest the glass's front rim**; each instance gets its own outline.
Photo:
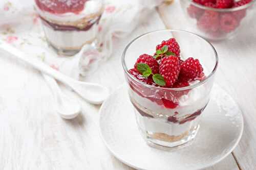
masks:
<instances>
[{"instance_id":1,"label":"lower mint sprig on foreground dessert, nearest the glass's front rim","mask_svg":"<svg viewBox=\"0 0 256 170\"><path fill-rule=\"evenodd\" d=\"M144 78L148 78L153 75L153 81L159 86L165 86L164 78L160 74L153 74L152 69L145 63L138 63L137 70L142 74Z\"/></svg>"}]
</instances>

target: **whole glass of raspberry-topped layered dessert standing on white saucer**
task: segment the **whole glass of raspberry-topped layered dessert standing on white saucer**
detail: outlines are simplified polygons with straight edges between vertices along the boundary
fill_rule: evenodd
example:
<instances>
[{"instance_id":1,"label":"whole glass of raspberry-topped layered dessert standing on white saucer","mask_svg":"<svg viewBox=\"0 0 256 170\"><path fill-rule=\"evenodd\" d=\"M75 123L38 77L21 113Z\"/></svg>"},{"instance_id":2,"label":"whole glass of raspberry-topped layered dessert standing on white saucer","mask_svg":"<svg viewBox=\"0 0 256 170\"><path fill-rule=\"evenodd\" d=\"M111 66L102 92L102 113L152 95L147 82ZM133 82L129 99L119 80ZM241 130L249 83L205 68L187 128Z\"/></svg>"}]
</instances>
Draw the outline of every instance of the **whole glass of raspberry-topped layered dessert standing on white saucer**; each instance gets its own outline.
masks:
<instances>
[{"instance_id":1,"label":"whole glass of raspberry-topped layered dessert standing on white saucer","mask_svg":"<svg viewBox=\"0 0 256 170\"><path fill-rule=\"evenodd\" d=\"M179 30L146 33L129 43L122 66L138 129L155 148L192 141L218 66L215 48Z\"/></svg>"}]
</instances>

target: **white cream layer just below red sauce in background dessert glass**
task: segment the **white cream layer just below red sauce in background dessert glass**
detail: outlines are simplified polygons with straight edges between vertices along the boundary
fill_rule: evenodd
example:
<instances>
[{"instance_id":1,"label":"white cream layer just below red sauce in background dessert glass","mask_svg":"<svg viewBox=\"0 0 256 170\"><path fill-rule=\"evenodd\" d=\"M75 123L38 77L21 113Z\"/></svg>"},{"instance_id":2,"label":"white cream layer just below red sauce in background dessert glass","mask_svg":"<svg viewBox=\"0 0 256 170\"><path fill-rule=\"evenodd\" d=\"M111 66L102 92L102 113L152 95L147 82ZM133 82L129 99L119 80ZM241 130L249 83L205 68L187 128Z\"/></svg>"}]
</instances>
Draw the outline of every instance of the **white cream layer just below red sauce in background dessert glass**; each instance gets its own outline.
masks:
<instances>
[{"instance_id":1,"label":"white cream layer just below red sauce in background dessert glass","mask_svg":"<svg viewBox=\"0 0 256 170\"><path fill-rule=\"evenodd\" d=\"M103 4L100 0L93 0L93 1L89 0L86 3L84 3L83 10L78 14L72 13L72 12L67 12L63 14L53 14L48 11L41 10L40 8L37 7L37 5L35 5L35 7L39 15L45 19L50 19L52 21L57 21L57 22L74 22L84 17L90 17L97 13L101 14L101 11L103 9Z\"/></svg>"}]
</instances>

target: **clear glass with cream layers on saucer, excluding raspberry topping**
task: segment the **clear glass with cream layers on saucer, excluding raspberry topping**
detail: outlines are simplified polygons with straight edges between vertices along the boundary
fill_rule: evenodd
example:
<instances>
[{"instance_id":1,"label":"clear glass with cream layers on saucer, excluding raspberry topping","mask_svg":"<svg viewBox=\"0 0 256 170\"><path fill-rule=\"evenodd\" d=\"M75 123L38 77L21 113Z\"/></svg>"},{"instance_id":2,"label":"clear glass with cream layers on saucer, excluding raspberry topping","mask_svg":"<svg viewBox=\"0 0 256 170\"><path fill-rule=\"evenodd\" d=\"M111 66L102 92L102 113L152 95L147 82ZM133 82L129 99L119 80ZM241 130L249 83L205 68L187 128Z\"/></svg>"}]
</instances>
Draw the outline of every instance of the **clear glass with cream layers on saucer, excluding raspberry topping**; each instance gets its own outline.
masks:
<instances>
[{"instance_id":1,"label":"clear glass with cream layers on saucer, excluding raspberry topping","mask_svg":"<svg viewBox=\"0 0 256 170\"><path fill-rule=\"evenodd\" d=\"M163 88L145 84L129 69L141 54L153 55L162 40L176 38L181 58L199 59L205 77L183 88ZM122 55L122 66L130 100L135 108L140 133L147 144L173 149L190 143L200 127L200 117L209 102L209 94L218 66L215 48L200 36L179 30L146 33L130 42Z\"/></svg>"}]
</instances>

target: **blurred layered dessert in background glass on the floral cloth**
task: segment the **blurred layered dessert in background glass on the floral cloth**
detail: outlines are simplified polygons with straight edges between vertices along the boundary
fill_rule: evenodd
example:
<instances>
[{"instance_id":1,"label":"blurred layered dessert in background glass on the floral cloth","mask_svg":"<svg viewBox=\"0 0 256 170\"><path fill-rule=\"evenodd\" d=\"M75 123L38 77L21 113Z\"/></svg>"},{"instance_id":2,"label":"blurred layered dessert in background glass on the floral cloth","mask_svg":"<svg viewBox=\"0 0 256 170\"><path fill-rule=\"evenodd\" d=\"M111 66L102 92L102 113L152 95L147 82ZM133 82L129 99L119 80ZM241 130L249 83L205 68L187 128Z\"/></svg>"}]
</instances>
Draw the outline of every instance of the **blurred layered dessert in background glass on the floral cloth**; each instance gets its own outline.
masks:
<instances>
[{"instance_id":1,"label":"blurred layered dessert in background glass on the floral cloth","mask_svg":"<svg viewBox=\"0 0 256 170\"><path fill-rule=\"evenodd\" d=\"M35 0L48 43L60 54L74 55L95 42L102 0Z\"/></svg>"}]
</instances>

